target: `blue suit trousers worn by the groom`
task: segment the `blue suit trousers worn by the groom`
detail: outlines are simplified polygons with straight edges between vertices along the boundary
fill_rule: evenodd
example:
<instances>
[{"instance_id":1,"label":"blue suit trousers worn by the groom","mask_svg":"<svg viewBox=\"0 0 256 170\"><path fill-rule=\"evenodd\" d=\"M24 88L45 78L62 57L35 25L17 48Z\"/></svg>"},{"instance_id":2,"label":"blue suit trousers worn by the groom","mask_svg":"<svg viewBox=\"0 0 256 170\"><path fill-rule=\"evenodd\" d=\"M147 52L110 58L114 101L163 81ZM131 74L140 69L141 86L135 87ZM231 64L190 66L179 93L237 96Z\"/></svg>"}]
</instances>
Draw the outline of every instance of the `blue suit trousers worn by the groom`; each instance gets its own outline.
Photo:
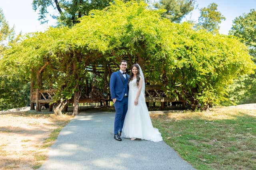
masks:
<instances>
[{"instance_id":1,"label":"blue suit trousers worn by the groom","mask_svg":"<svg viewBox=\"0 0 256 170\"><path fill-rule=\"evenodd\" d=\"M122 101L116 100L114 106L116 109L114 134L118 134L118 131L122 131L123 129L124 118L128 109L128 98L123 98Z\"/></svg>"}]
</instances>

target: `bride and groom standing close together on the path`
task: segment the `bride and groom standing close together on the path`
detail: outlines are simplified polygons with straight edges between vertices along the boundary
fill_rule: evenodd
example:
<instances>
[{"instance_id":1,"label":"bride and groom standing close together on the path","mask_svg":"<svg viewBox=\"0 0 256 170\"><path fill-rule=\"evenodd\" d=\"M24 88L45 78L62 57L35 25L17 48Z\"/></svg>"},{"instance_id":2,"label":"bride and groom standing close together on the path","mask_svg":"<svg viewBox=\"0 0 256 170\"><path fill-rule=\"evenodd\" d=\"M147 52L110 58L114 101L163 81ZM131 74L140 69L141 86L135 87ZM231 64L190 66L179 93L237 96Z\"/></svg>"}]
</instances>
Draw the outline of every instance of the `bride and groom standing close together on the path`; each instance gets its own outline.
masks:
<instances>
[{"instance_id":1,"label":"bride and groom standing close together on the path","mask_svg":"<svg viewBox=\"0 0 256 170\"><path fill-rule=\"evenodd\" d=\"M120 70L110 77L110 94L116 109L114 139L121 137L162 141L161 133L154 128L145 102L145 82L138 64L131 66L130 75L126 73L127 61L120 62Z\"/></svg>"}]
</instances>

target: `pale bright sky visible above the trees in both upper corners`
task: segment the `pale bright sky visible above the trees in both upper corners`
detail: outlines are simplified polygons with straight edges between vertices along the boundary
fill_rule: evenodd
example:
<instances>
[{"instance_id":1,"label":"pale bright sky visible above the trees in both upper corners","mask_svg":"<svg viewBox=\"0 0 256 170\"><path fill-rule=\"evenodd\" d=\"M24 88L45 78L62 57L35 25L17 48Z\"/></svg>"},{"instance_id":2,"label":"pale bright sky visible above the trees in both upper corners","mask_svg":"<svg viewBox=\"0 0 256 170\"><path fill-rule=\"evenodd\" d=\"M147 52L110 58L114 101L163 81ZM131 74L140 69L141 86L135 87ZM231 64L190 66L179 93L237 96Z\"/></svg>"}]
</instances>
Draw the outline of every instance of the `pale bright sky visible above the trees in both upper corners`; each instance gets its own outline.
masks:
<instances>
[{"instance_id":1,"label":"pale bright sky visible above the trees in both upper corners","mask_svg":"<svg viewBox=\"0 0 256 170\"><path fill-rule=\"evenodd\" d=\"M50 16L48 16L49 23L40 24L37 12L32 9L32 2L33 0L0 0L0 8L9 25L14 26L16 34L22 32L24 35L30 32L45 31L50 25L56 25L56 21ZM198 21L199 9L207 7L213 2L218 5L218 11L226 18L220 24L220 33L226 35L236 17L249 13L251 9L256 9L256 0L196 0L198 7L182 21Z\"/></svg>"}]
</instances>

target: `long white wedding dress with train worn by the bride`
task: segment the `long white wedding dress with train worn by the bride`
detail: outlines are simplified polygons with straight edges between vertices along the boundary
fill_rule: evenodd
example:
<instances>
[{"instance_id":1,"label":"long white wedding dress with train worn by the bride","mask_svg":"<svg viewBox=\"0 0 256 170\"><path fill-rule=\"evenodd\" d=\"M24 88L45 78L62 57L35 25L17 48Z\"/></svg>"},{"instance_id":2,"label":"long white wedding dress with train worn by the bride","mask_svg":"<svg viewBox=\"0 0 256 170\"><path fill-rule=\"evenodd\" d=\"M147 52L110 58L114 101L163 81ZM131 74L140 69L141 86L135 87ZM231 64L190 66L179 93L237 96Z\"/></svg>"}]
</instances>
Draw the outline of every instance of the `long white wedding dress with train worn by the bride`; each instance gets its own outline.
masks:
<instances>
[{"instance_id":1,"label":"long white wedding dress with train worn by the bride","mask_svg":"<svg viewBox=\"0 0 256 170\"><path fill-rule=\"evenodd\" d=\"M148 107L146 106L144 98L143 88L138 98L138 105L134 105L134 100L136 98L137 92L138 86L136 79L134 79L129 83L128 110L124 119L124 126L122 129L121 137L135 137L138 139L144 139L154 142L162 141L163 139L161 137L161 133L152 125L148 113Z\"/></svg>"}]
</instances>

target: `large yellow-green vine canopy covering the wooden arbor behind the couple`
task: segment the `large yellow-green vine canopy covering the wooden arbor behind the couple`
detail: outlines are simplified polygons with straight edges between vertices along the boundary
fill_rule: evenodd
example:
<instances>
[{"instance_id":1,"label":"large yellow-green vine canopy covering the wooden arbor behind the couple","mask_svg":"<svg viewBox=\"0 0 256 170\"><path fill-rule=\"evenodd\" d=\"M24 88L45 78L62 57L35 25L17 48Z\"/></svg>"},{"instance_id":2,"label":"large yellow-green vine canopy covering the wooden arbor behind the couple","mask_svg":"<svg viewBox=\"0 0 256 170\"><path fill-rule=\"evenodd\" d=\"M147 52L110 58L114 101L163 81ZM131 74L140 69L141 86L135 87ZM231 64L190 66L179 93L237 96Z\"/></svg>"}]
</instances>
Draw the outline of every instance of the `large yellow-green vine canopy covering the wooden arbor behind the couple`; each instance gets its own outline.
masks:
<instances>
[{"instance_id":1,"label":"large yellow-green vine canopy covering the wooden arbor behind the couple","mask_svg":"<svg viewBox=\"0 0 256 170\"><path fill-rule=\"evenodd\" d=\"M59 100L81 91L88 66L109 66L121 59L130 65L141 57L150 83L162 85L170 98L203 109L219 103L234 78L253 72L246 46L234 37L195 31L163 14L143 2L116 1L92 10L72 28L27 35L6 51L2 64L34 80L34 72L42 70L42 82L58 90Z\"/></svg>"}]
</instances>

